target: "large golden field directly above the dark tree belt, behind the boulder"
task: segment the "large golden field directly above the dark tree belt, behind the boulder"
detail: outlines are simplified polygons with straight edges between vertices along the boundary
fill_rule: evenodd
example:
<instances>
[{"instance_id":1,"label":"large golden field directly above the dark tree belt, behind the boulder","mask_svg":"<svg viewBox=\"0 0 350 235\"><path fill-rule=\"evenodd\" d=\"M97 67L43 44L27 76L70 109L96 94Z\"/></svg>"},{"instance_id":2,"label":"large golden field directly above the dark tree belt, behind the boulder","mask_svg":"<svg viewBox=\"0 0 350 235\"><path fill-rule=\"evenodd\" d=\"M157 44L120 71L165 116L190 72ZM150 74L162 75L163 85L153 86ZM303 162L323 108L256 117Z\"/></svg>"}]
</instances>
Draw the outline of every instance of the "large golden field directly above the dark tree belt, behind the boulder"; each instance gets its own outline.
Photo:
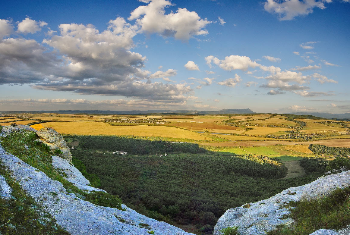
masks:
<instances>
[{"instance_id":1,"label":"large golden field directly above the dark tree belt, behind the boulder","mask_svg":"<svg viewBox=\"0 0 350 235\"><path fill-rule=\"evenodd\" d=\"M63 134L160 136L205 140L205 137L198 133L165 126L110 126L103 122L46 122L31 127L36 130L53 127ZM208 137L206 139L208 140Z\"/></svg>"}]
</instances>

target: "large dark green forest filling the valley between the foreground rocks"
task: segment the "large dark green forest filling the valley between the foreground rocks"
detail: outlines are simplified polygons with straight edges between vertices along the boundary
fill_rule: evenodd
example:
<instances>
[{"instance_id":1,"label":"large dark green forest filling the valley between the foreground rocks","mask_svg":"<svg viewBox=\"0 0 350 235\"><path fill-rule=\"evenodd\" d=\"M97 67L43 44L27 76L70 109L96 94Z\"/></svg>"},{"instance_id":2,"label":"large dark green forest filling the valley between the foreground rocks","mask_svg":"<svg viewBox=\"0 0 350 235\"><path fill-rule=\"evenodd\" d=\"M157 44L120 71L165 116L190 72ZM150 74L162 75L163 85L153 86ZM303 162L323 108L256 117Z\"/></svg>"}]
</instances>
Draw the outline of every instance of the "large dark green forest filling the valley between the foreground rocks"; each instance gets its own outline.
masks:
<instances>
[{"instance_id":1,"label":"large dark green forest filling the valley between the foreground rocks","mask_svg":"<svg viewBox=\"0 0 350 235\"><path fill-rule=\"evenodd\" d=\"M212 231L229 208L310 183L323 173L278 179L286 175L284 164L251 156L72 154L73 159L85 164L87 173L100 178L100 188L119 195L124 204L139 213L157 220L193 224L205 231Z\"/></svg>"}]
</instances>

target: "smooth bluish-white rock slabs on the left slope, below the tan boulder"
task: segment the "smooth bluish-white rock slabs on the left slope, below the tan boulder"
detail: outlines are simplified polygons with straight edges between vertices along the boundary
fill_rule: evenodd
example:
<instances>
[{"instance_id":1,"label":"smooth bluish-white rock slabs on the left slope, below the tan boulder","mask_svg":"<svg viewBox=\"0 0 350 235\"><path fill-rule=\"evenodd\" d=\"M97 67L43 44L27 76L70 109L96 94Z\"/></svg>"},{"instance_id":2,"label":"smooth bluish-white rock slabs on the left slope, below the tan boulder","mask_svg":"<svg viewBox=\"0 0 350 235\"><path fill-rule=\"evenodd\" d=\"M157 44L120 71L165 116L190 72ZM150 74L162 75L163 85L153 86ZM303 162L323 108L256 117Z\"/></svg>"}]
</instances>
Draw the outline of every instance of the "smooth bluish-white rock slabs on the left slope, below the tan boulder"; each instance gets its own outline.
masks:
<instances>
[{"instance_id":1,"label":"smooth bluish-white rock slabs on the left slope, below the tan boulder","mask_svg":"<svg viewBox=\"0 0 350 235\"><path fill-rule=\"evenodd\" d=\"M52 180L45 173L7 153L1 143L0 159L2 165L8 167L12 178L35 199L37 204L47 208L47 213L51 214L57 220L57 224L71 235L148 235L150 230L162 235L194 235L168 223L147 218L125 205L122 205L125 211L121 211L84 201L74 193L67 192L59 181ZM52 156L52 164L66 180L79 189L103 191L89 186L89 180L69 161ZM9 196L10 191L6 180L0 177L1 197ZM140 223L149 225L148 229L142 228Z\"/></svg>"}]
</instances>

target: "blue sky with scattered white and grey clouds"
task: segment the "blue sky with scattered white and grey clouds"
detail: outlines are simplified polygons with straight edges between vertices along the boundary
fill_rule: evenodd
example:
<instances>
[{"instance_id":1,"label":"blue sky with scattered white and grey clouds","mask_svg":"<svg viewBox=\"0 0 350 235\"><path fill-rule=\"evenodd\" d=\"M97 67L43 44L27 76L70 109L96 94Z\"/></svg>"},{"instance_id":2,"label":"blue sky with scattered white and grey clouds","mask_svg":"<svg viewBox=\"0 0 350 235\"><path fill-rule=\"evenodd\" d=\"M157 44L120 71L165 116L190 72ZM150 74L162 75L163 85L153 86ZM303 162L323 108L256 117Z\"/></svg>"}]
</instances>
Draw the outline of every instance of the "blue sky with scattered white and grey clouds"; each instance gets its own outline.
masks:
<instances>
[{"instance_id":1,"label":"blue sky with scattered white and grey clouds","mask_svg":"<svg viewBox=\"0 0 350 235\"><path fill-rule=\"evenodd\" d=\"M0 110L350 112L349 0L7 1Z\"/></svg>"}]
</instances>

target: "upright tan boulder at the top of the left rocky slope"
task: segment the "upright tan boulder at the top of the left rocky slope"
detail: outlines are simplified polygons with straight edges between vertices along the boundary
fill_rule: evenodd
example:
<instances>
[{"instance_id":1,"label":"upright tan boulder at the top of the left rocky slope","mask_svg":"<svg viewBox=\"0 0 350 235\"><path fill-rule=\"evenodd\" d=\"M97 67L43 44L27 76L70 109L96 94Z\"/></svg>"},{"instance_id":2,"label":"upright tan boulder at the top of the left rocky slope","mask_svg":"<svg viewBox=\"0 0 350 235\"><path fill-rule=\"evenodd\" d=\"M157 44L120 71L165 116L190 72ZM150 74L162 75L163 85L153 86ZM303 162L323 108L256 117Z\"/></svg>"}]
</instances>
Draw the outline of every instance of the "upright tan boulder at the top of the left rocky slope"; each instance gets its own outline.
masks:
<instances>
[{"instance_id":1,"label":"upright tan boulder at the top of the left rocky slope","mask_svg":"<svg viewBox=\"0 0 350 235\"><path fill-rule=\"evenodd\" d=\"M62 135L60 135L54 128L44 127L36 131L36 134L40 137L40 139L36 141L48 145L52 151L61 150L62 153L58 154L58 156L72 162L70 148L66 145Z\"/></svg>"}]
</instances>

